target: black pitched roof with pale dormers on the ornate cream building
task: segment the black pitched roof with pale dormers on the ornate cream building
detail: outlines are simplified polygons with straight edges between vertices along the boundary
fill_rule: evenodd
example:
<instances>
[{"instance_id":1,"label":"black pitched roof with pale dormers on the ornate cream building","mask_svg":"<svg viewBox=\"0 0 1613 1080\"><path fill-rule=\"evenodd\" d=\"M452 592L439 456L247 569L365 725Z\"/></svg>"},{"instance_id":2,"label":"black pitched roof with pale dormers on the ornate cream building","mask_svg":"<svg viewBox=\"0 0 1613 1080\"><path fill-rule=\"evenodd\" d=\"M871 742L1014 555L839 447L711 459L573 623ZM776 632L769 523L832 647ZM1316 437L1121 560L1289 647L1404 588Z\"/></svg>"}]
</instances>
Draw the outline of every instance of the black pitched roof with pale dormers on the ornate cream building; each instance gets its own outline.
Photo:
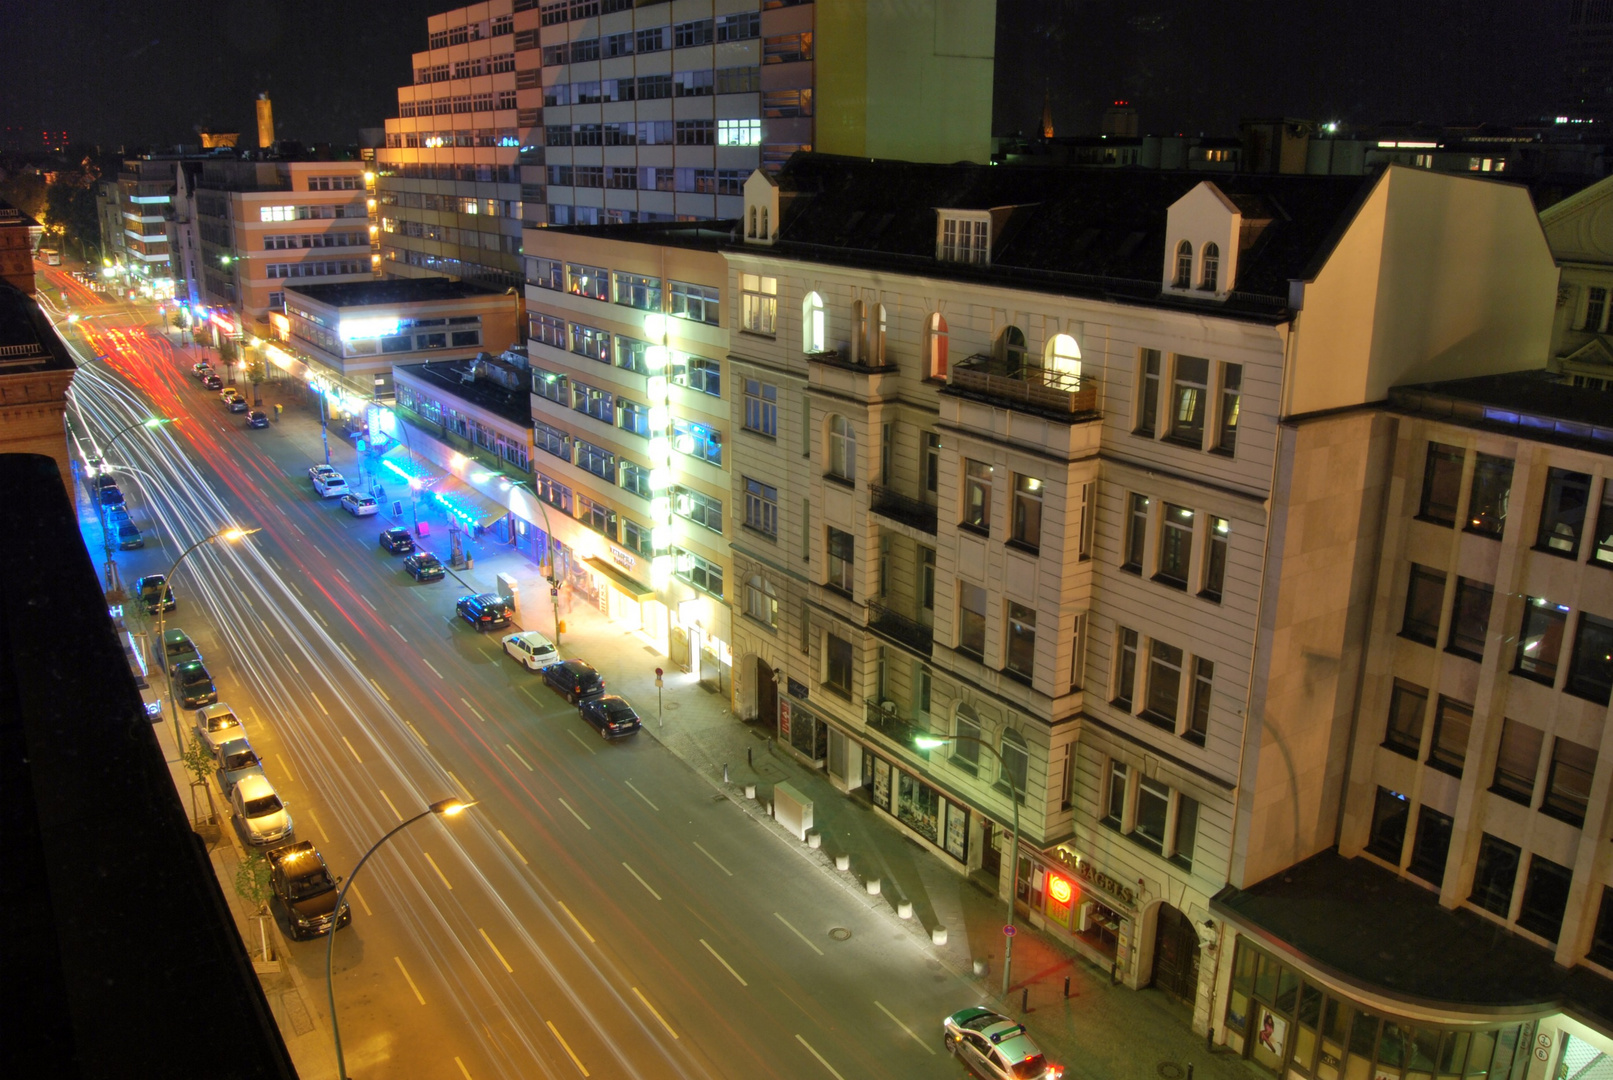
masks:
<instances>
[{"instance_id":1,"label":"black pitched roof with pale dormers on the ornate cream building","mask_svg":"<svg viewBox=\"0 0 1613 1080\"><path fill-rule=\"evenodd\" d=\"M1226 301L1161 295L1171 205L1203 182L1269 218L1239 253ZM1163 172L1079 166L916 164L798 153L779 176L794 193L774 250L1061 295L1095 295L1245 318L1282 318L1289 282L1331 253L1376 177ZM937 210L1010 210L989 268L936 260Z\"/></svg>"}]
</instances>

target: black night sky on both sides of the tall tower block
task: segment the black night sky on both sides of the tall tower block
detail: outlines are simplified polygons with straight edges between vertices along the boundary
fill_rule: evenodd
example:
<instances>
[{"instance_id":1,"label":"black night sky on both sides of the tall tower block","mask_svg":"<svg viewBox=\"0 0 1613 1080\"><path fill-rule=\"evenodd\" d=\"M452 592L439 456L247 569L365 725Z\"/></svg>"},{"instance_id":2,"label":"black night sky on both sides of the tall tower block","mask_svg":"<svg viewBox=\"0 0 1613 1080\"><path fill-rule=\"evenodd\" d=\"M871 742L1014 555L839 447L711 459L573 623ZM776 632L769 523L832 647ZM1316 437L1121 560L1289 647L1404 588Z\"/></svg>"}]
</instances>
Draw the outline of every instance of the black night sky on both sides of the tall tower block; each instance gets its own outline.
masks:
<instances>
[{"instance_id":1,"label":"black night sky on both sides of the tall tower block","mask_svg":"<svg viewBox=\"0 0 1613 1080\"><path fill-rule=\"evenodd\" d=\"M902 3L903 0L890 0ZM1236 134L1240 116L1529 121L1557 108L1568 0L998 0L995 134L1060 134L1108 100L1140 127ZM163 147L197 127L355 142L395 111L426 16L453 0L5 0L0 126ZM37 135L35 135L37 137Z\"/></svg>"}]
</instances>

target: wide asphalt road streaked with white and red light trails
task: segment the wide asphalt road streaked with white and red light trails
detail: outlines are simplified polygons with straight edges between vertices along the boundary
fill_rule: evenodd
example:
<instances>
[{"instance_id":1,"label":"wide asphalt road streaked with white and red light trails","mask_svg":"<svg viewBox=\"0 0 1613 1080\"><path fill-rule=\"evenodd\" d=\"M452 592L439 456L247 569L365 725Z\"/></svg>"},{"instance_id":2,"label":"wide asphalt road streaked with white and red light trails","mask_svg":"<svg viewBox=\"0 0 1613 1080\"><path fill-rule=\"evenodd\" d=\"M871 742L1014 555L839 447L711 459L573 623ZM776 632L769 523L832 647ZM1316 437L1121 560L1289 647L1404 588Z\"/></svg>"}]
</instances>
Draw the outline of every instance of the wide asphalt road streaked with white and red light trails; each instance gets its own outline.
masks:
<instances>
[{"instance_id":1,"label":"wide asphalt road streaked with white and red light trails","mask_svg":"<svg viewBox=\"0 0 1613 1080\"><path fill-rule=\"evenodd\" d=\"M961 1074L940 1017L976 990L660 743L602 741L497 633L455 619L453 577L411 582L376 543L394 522L311 492L308 409L248 430L160 329L102 314L79 324L106 363L77 376L74 435L182 417L108 448L148 535L118 556L124 580L226 525L261 529L185 558L168 625L197 638L298 838L345 875L427 803L477 801L400 833L350 891L336 995L352 1077ZM350 443L331 447L352 479ZM608 679L644 658L590 659ZM284 948L323 990L324 940Z\"/></svg>"}]
</instances>

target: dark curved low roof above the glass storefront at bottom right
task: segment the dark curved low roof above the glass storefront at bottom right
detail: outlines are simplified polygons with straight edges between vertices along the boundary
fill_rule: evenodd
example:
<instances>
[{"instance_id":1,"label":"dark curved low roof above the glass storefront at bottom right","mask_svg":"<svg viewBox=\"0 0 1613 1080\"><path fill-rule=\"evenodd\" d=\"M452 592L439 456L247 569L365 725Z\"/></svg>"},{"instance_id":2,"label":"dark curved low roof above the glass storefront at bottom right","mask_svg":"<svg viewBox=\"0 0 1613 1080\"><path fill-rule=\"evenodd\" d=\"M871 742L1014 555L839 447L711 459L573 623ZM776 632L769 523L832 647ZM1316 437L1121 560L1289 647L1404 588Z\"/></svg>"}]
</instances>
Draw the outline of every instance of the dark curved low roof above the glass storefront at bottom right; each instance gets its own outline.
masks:
<instances>
[{"instance_id":1,"label":"dark curved low roof above the glass storefront at bottom right","mask_svg":"<svg viewBox=\"0 0 1613 1080\"><path fill-rule=\"evenodd\" d=\"M1552 949L1482 916L1439 906L1439 896L1368 859L1323 851L1239 890L1211 911L1253 927L1344 982L1440 1011L1555 1011L1607 1028L1613 982L1558 967Z\"/></svg>"}]
</instances>

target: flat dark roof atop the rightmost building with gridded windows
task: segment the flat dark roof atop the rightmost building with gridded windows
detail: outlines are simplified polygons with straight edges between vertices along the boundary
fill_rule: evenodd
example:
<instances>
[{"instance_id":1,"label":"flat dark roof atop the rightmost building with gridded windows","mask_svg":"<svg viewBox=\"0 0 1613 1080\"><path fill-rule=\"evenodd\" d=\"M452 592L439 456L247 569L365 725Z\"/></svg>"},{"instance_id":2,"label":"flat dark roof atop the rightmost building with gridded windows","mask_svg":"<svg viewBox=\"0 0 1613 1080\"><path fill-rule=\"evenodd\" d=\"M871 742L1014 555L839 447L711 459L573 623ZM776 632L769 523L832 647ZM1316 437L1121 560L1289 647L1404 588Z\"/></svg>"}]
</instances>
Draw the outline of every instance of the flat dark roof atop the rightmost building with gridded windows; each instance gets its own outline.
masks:
<instances>
[{"instance_id":1,"label":"flat dark roof atop the rightmost building with gridded windows","mask_svg":"<svg viewBox=\"0 0 1613 1080\"><path fill-rule=\"evenodd\" d=\"M1544 369L1394 387L1389 408L1515 438L1613 453L1613 392L1573 387Z\"/></svg>"}]
</instances>

